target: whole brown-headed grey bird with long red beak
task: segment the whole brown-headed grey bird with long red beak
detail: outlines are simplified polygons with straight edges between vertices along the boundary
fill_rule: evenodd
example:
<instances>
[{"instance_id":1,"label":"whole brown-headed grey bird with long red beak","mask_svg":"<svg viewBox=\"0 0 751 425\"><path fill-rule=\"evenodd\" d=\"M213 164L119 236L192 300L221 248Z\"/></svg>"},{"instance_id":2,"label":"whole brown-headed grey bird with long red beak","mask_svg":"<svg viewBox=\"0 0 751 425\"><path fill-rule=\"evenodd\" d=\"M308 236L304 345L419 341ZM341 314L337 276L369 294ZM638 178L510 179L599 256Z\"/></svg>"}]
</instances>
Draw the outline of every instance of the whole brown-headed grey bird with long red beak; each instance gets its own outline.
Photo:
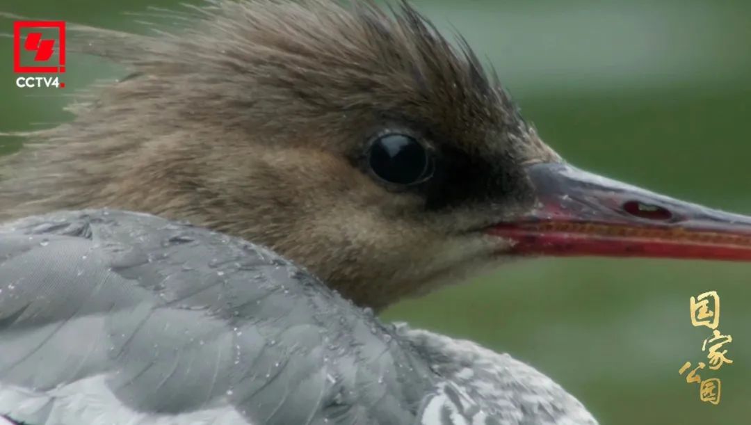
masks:
<instances>
[{"instance_id":1,"label":"whole brown-headed grey bird with long red beak","mask_svg":"<svg viewBox=\"0 0 751 425\"><path fill-rule=\"evenodd\" d=\"M595 424L377 313L517 258L751 261L751 218L580 170L412 5L209 0L69 26L128 68L0 160L0 417Z\"/></svg>"}]
</instances>

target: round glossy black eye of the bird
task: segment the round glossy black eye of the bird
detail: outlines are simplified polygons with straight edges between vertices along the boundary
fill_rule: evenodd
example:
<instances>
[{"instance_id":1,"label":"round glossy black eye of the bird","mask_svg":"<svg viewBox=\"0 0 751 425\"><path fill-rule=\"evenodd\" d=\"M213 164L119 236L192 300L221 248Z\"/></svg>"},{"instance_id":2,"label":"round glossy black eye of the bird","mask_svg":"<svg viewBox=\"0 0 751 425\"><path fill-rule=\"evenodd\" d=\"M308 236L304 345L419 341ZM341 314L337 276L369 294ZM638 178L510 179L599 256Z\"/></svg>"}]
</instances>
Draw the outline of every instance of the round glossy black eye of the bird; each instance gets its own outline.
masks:
<instances>
[{"instance_id":1,"label":"round glossy black eye of the bird","mask_svg":"<svg viewBox=\"0 0 751 425\"><path fill-rule=\"evenodd\" d=\"M368 153L368 165L386 182L412 185L433 173L430 153L406 134L386 134L376 139Z\"/></svg>"}]
</instances>

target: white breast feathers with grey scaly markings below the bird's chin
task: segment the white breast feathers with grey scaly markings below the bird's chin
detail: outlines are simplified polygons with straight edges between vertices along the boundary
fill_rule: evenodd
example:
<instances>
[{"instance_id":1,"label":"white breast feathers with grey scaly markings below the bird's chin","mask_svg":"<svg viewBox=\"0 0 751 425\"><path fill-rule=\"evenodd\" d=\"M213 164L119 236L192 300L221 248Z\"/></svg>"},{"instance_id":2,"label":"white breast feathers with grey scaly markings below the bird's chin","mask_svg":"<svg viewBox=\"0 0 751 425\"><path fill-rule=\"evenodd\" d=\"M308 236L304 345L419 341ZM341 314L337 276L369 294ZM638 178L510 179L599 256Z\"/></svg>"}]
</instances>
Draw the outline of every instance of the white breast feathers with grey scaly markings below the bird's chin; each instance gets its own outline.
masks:
<instances>
[{"instance_id":1,"label":"white breast feathers with grey scaly markings below the bird's chin","mask_svg":"<svg viewBox=\"0 0 751 425\"><path fill-rule=\"evenodd\" d=\"M403 324L397 335L447 380L424 400L421 425L597 425L578 399L508 354Z\"/></svg>"}]
</instances>

